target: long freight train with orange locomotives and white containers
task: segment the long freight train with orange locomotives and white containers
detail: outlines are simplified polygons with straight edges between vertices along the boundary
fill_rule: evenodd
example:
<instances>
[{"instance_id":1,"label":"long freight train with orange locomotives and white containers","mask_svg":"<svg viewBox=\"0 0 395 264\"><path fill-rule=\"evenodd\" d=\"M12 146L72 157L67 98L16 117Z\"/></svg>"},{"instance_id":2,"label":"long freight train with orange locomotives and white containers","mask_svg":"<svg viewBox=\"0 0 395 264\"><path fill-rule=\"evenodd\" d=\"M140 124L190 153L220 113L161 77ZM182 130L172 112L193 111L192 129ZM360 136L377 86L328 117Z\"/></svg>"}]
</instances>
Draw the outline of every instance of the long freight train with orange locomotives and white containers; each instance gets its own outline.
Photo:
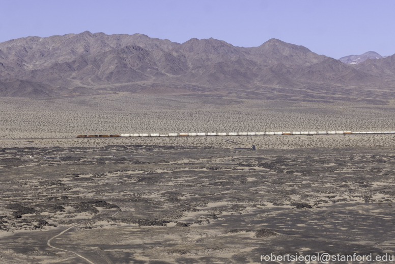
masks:
<instances>
[{"instance_id":1,"label":"long freight train with orange locomotives and white containers","mask_svg":"<svg viewBox=\"0 0 395 264\"><path fill-rule=\"evenodd\" d=\"M201 137L201 136L263 136L263 135L349 135L349 134L395 134L395 131L265 131L265 132L213 132L213 133L135 133L119 135L78 135L77 138L129 138L129 137Z\"/></svg>"}]
</instances>

